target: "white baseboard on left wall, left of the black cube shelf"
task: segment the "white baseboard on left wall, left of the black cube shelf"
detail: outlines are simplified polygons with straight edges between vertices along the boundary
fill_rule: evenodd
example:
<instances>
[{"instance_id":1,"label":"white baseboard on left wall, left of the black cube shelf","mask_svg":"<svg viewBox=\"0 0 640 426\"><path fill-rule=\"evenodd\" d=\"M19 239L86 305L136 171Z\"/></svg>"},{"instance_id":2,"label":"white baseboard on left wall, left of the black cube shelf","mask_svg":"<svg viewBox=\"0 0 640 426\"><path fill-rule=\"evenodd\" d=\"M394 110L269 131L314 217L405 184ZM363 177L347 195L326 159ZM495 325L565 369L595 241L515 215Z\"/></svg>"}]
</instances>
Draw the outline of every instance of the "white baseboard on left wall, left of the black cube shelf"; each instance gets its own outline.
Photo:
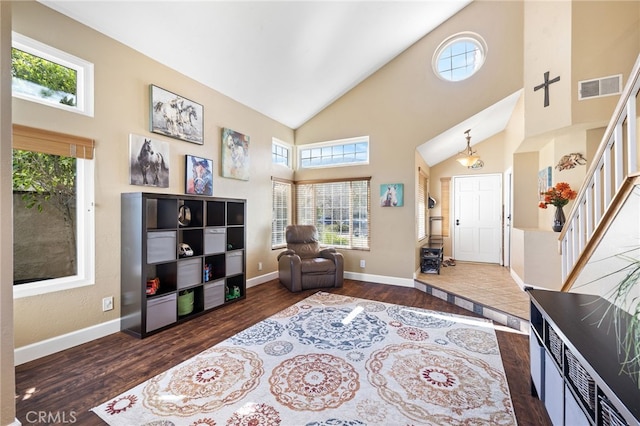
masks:
<instances>
[{"instance_id":1,"label":"white baseboard on left wall, left of the black cube shelf","mask_svg":"<svg viewBox=\"0 0 640 426\"><path fill-rule=\"evenodd\" d=\"M22 346L14 350L14 363L15 365L24 364L118 331L120 331L120 318Z\"/></svg>"}]
</instances>

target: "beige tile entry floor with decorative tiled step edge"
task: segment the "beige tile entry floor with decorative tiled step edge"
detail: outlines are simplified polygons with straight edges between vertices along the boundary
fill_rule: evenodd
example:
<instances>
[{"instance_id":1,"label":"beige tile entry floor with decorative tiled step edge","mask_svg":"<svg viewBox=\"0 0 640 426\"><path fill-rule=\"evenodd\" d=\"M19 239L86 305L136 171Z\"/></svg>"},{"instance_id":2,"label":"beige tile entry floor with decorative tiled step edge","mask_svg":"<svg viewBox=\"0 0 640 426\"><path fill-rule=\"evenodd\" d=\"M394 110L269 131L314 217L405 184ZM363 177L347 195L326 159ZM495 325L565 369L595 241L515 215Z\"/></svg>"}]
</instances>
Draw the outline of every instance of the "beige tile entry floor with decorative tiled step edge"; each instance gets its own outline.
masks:
<instances>
[{"instance_id":1,"label":"beige tile entry floor with decorative tiled step edge","mask_svg":"<svg viewBox=\"0 0 640 426\"><path fill-rule=\"evenodd\" d=\"M528 332L529 296L496 264L457 261L440 274L418 274L416 287L500 324Z\"/></svg>"}]
</instances>

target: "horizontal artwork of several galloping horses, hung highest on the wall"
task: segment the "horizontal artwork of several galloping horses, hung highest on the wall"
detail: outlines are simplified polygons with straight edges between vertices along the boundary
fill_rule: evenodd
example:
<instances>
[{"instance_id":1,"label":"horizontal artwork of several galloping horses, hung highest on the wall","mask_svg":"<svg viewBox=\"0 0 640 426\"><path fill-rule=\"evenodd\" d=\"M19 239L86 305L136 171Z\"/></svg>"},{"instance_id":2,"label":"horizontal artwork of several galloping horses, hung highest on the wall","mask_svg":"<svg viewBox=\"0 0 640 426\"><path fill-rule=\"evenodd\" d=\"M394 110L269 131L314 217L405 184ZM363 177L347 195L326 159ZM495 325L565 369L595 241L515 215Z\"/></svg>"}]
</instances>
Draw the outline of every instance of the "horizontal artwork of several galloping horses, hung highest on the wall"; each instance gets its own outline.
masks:
<instances>
[{"instance_id":1,"label":"horizontal artwork of several galloping horses, hung highest on the wall","mask_svg":"<svg viewBox=\"0 0 640 426\"><path fill-rule=\"evenodd\" d=\"M204 108L168 90L149 85L149 126L158 133L187 142L204 143Z\"/></svg>"}]
</instances>

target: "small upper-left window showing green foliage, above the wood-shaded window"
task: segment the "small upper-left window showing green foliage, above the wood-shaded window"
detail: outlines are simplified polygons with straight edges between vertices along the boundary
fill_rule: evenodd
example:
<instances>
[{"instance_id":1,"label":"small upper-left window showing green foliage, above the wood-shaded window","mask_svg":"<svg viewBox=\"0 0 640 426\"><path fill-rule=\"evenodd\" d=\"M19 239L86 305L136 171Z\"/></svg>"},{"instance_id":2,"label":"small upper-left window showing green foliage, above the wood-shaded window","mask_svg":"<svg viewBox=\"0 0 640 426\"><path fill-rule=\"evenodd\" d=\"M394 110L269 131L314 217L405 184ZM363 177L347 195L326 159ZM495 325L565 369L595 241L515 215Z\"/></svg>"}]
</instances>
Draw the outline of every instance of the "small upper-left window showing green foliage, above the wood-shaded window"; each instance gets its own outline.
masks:
<instances>
[{"instance_id":1,"label":"small upper-left window showing green foliage, above the wood-shaded window","mask_svg":"<svg viewBox=\"0 0 640 426\"><path fill-rule=\"evenodd\" d=\"M93 64L12 33L13 96L93 117Z\"/></svg>"}]
</instances>

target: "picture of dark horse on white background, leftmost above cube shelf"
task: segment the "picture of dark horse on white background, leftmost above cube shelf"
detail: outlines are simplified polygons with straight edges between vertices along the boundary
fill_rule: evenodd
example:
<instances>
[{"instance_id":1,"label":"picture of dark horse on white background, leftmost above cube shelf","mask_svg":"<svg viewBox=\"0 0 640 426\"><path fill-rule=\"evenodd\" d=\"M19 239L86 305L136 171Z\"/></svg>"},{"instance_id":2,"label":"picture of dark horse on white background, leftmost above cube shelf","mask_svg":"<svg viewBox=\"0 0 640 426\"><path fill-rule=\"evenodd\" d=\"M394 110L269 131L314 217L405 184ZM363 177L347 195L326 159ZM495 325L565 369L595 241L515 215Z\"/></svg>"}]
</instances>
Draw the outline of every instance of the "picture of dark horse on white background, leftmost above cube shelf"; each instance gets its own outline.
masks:
<instances>
[{"instance_id":1,"label":"picture of dark horse on white background, leftmost above cube shelf","mask_svg":"<svg viewBox=\"0 0 640 426\"><path fill-rule=\"evenodd\" d=\"M169 144L146 136L129 135L129 183L169 187Z\"/></svg>"}]
</instances>

